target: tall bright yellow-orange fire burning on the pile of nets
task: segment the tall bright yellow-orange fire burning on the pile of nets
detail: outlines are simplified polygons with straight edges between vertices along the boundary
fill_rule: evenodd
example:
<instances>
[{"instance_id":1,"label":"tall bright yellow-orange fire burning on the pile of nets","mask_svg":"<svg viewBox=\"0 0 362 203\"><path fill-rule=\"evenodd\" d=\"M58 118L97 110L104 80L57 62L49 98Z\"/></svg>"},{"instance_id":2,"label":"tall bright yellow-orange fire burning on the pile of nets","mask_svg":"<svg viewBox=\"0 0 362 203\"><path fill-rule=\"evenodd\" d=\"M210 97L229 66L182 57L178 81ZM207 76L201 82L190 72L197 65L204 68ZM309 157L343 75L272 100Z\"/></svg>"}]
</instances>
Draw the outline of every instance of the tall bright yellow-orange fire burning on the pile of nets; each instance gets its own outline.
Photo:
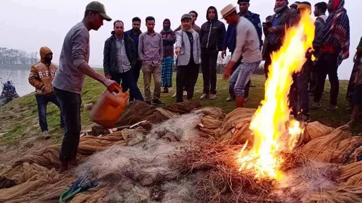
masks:
<instances>
[{"instance_id":1,"label":"tall bright yellow-orange fire burning on the pile of nets","mask_svg":"<svg viewBox=\"0 0 362 203\"><path fill-rule=\"evenodd\" d=\"M297 136L302 133L298 121L289 121L288 94L292 74L299 72L306 61L305 53L312 47L314 31L314 21L310 19L309 12L302 14L298 25L286 30L280 50L271 54L265 99L250 123L254 145L246 151L246 143L238 154L239 171L251 171L256 178L282 178L278 169L283 159L279 152L292 150ZM282 135L287 135L287 141L280 139Z\"/></svg>"}]
</instances>

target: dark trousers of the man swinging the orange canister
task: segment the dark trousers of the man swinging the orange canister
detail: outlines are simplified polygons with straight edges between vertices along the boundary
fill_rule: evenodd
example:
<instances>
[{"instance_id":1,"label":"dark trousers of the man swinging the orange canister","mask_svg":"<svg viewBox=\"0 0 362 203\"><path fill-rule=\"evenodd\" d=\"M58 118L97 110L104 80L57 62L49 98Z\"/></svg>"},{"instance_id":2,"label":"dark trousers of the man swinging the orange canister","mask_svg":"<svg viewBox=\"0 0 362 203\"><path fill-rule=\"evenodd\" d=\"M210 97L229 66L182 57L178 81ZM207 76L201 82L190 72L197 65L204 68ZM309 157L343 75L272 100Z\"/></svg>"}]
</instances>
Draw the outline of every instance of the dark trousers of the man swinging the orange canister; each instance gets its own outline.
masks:
<instances>
[{"instance_id":1,"label":"dark trousers of the man swinging the orange canister","mask_svg":"<svg viewBox=\"0 0 362 203\"><path fill-rule=\"evenodd\" d=\"M62 108L65 123L65 133L59 159L70 161L78 150L81 135L81 104L80 94L54 88Z\"/></svg>"}]
</instances>

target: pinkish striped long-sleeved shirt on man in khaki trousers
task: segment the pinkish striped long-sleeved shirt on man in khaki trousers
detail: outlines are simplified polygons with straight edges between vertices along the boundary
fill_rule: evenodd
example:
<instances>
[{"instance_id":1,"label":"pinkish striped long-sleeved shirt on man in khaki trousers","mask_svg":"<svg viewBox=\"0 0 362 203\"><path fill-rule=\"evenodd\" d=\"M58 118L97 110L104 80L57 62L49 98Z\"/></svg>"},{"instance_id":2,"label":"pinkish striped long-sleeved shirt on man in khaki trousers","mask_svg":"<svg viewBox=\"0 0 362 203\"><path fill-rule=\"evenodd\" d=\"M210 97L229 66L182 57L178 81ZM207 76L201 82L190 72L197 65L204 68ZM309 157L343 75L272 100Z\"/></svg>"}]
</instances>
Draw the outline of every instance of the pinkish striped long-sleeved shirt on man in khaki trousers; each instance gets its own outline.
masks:
<instances>
[{"instance_id":1,"label":"pinkish striped long-sleeved shirt on man in khaki trousers","mask_svg":"<svg viewBox=\"0 0 362 203\"><path fill-rule=\"evenodd\" d=\"M138 44L138 55L139 59L144 60L146 64L153 62L160 65L164 55L162 35L157 32L152 35L148 32L142 33Z\"/></svg>"}]
</instances>

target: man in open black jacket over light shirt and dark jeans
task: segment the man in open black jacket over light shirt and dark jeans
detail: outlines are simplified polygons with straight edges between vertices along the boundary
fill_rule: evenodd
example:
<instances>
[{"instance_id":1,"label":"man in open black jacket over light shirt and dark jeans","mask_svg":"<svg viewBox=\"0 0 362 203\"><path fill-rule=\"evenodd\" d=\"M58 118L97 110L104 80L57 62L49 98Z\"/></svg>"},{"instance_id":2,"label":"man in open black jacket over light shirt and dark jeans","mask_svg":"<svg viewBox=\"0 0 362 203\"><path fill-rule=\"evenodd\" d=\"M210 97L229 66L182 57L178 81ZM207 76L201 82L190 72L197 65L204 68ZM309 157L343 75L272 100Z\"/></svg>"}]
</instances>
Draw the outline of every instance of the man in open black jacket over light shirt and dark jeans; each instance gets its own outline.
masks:
<instances>
[{"instance_id":1,"label":"man in open black jacket over light shirt and dark jeans","mask_svg":"<svg viewBox=\"0 0 362 203\"><path fill-rule=\"evenodd\" d=\"M104 75L118 84L122 81L123 92L129 89L136 100L144 101L132 72L132 67L137 64L136 46L132 38L123 31L123 22L116 20L113 23L112 36L104 43Z\"/></svg>"}]
</instances>

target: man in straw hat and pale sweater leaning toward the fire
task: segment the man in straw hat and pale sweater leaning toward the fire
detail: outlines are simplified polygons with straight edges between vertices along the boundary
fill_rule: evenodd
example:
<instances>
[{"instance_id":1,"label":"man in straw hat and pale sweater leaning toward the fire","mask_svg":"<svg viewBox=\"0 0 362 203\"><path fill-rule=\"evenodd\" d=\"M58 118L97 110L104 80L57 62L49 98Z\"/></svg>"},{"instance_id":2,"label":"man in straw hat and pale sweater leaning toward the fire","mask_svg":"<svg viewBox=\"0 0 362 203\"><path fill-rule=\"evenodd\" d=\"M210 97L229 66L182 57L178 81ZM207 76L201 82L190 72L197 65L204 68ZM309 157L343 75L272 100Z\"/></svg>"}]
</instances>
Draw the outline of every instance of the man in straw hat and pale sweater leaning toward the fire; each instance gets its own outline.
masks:
<instances>
[{"instance_id":1,"label":"man in straw hat and pale sweater leaning toward the fire","mask_svg":"<svg viewBox=\"0 0 362 203\"><path fill-rule=\"evenodd\" d=\"M241 64L230 77L229 86L234 87L236 107L243 107L245 86L262 60L260 40L253 23L244 16L238 15L232 4L222 9L221 14L227 23L237 24L235 51L225 67L224 79L230 77L233 67L242 57Z\"/></svg>"}]
</instances>

